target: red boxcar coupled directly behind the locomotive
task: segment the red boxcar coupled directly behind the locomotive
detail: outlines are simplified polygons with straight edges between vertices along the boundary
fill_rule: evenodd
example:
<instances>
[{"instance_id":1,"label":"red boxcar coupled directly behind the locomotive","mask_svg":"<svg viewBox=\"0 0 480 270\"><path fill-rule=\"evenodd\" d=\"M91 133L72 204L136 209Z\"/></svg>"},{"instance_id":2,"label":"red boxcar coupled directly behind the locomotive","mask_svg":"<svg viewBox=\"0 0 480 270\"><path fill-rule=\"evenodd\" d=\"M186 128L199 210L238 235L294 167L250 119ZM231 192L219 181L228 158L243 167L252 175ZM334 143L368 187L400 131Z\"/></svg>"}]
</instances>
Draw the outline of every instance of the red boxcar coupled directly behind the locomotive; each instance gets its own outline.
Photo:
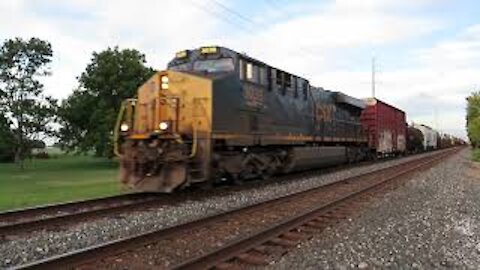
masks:
<instances>
[{"instance_id":1,"label":"red boxcar coupled directly behind the locomotive","mask_svg":"<svg viewBox=\"0 0 480 270\"><path fill-rule=\"evenodd\" d=\"M405 153L405 112L376 98L365 99L365 103L367 107L360 119L372 153L376 156Z\"/></svg>"}]
</instances>

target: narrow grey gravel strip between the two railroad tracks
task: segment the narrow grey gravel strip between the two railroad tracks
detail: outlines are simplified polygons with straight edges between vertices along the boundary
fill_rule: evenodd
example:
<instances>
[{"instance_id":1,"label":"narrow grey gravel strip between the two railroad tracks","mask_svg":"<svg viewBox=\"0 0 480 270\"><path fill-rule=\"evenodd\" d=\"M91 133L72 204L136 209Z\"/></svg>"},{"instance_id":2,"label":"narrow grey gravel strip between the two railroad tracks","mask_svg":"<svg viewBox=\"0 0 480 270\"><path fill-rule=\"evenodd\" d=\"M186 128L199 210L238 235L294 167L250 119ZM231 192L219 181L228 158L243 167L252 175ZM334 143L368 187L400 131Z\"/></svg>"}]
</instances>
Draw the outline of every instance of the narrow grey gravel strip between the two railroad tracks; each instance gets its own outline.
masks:
<instances>
[{"instance_id":1,"label":"narrow grey gravel strip between the two railroad tracks","mask_svg":"<svg viewBox=\"0 0 480 270\"><path fill-rule=\"evenodd\" d=\"M428 155L428 154L427 154ZM25 264L41 258L116 240L154 229L185 223L201 217L251 205L306 190L417 157L392 160L295 181L272 183L236 192L212 191L212 197L185 201L148 211L137 211L79 223L58 231L41 231L27 237L12 237L0 243L0 267Z\"/></svg>"}]
</instances>

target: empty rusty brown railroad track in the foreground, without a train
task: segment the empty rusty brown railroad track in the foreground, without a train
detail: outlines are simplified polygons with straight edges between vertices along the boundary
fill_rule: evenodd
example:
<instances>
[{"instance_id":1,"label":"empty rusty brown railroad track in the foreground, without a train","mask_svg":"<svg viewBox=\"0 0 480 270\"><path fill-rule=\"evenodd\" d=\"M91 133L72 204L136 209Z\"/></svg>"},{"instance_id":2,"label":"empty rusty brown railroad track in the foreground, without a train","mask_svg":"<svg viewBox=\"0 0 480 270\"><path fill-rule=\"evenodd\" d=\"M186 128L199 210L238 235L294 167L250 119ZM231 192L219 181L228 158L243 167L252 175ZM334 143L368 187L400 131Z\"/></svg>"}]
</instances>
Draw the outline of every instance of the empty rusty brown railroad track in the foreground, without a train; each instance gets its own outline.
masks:
<instances>
[{"instance_id":1,"label":"empty rusty brown railroad track in the foreground, without a train","mask_svg":"<svg viewBox=\"0 0 480 270\"><path fill-rule=\"evenodd\" d=\"M407 161L274 200L175 227L124 238L32 262L18 268L242 268L265 265L355 213L377 193L429 168L458 149ZM397 181L398 180L398 181Z\"/></svg>"}]
</instances>

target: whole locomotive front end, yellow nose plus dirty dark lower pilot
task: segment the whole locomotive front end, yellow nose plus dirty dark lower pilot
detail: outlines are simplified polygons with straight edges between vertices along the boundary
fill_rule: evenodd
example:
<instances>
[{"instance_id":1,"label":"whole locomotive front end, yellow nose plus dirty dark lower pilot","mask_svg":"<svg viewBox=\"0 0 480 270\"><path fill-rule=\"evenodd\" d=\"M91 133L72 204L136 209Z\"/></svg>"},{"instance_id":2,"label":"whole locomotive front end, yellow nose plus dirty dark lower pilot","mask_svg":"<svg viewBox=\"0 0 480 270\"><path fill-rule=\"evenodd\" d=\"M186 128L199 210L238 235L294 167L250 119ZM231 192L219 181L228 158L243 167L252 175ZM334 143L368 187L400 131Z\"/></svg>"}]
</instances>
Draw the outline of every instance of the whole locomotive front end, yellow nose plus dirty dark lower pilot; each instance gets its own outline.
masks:
<instances>
[{"instance_id":1,"label":"whole locomotive front end, yellow nose plus dirty dark lower pilot","mask_svg":"<svg viewBox=\"0 0 480 270\"><path fill-rule=\"evenodd\" d=\"M121 182L137 191L171 192L208 178L212 80L160 71L137 95L120 154Z\"/></svg>"}]
</instances>

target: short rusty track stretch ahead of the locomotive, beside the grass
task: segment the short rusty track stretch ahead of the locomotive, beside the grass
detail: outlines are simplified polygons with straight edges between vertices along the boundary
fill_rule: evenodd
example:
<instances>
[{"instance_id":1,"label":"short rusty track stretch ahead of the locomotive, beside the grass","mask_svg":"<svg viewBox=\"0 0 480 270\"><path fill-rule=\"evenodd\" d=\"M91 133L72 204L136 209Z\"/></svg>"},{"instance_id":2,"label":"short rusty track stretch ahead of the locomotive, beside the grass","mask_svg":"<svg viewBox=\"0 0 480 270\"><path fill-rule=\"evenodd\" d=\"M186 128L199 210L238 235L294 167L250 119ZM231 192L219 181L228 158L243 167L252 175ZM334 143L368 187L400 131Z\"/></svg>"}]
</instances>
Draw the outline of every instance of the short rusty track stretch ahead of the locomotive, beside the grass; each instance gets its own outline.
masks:
<instances>
[{"instance_id":1,"label":"short rusty track stretch ahead of the locomotive, beside the grass","mask_svg":"<svg viewBox=\"0 0 480 270\"><path fill-rule=\"evenodd\" d=\"M0 239L34 230L66 226L93 217L125 212L159 203L158 194L132 193L117 196L45 205L0 213Z\"/></svg>"}]
</instances>

